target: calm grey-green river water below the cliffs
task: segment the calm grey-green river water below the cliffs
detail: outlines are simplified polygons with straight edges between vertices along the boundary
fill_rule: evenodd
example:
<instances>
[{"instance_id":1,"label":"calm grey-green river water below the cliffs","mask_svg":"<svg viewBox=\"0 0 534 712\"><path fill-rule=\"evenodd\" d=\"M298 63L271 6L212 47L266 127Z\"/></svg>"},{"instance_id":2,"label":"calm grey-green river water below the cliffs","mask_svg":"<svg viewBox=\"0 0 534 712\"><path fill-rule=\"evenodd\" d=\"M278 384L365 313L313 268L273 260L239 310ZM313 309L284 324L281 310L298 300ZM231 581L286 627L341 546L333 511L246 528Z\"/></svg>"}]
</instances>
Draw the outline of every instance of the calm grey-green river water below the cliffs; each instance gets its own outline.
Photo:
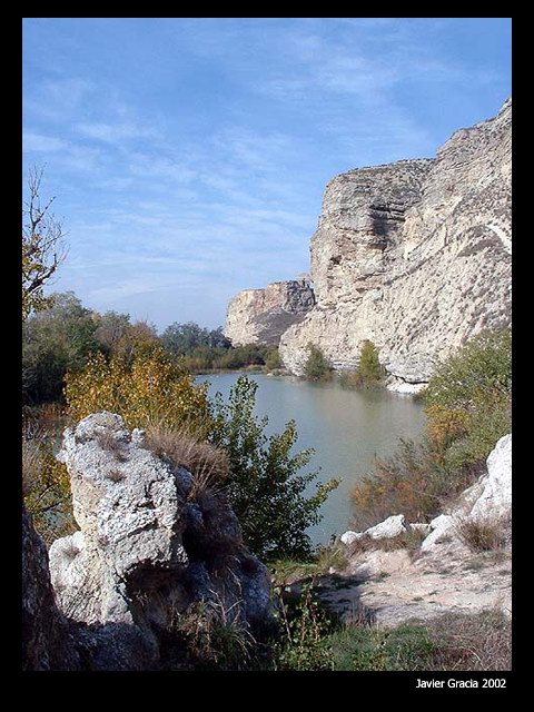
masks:
<instances>
[{"instance_id":1,"label":"calm grey-green river water below the cliffs","mask_svg":"<svg viewBox=\"0 0 534 712\"><path fill-rule=\"evenodd\" d=\"M239 375L199 376L198 380L210 382L209 394L220 392L226 398ZM315 384L263 374L248 377L258 383L256 413L269 417L267 433L279 433L294 418L298 449L315 449L308 468L320 467L322 481L343 477L322 507L323 521L309 530L315 544L328 543L332 534L350 528L350 490L372 471L375 455L393 453L398 438L419 437L423 406L411 396L385 389L348 390L337 383Z\"/></svg>"}]
</instances>

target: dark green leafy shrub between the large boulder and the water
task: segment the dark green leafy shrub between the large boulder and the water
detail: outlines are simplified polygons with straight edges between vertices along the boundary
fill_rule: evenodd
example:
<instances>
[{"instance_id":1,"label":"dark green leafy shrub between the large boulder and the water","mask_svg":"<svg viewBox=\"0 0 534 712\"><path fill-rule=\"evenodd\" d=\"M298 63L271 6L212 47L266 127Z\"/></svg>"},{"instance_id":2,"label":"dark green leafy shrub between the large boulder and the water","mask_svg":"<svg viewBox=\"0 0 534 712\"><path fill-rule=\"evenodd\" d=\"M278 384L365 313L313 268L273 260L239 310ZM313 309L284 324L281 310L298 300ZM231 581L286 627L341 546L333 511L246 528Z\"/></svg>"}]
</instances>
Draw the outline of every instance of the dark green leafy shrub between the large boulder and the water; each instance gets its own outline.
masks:
<instances>
[{"instance_id":1,"label":"dark green leafy shrub between the large boulder and the water","mask_svg":"<svg viewBox=\"0 0 534 712\"><path fill-rule=\"evenodd\" d=\"M297 439L293 421L284 433L265 435L268 418L258 422L254 415L256 389L257 383L241 376L228 404L217 394L209 439L228 453L225 490L247 546L260 558L306 557L312 551L306 528L320 521L318 510L338 482L317 484L315 494L304 496L317 473L297 473L309 463L312 451L291 455Z\"/></svg>"}]
</instances>

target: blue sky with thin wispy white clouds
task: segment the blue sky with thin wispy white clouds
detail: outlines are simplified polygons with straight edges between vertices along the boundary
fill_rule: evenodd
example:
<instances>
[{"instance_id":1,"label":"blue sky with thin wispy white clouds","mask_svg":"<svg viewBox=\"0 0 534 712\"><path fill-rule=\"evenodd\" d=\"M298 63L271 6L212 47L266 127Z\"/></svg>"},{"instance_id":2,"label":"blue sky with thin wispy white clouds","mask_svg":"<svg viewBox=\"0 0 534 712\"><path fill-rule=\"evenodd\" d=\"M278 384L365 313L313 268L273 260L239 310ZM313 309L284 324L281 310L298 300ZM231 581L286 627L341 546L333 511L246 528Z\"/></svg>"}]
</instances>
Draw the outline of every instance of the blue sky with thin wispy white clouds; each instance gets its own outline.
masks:
<instances>
[{"instance_id":1,"label":"blue sky with thin wispy white clouds","mask_svg":"<svg viewBox=\"0 0 534 712\"><path fill-rule=\"evenodd\" d=\"M23 170L50 290L158 328L309 270L335 175L432 157L511 93L506 18L27 18Z\"/></svg>"}]
</instances>

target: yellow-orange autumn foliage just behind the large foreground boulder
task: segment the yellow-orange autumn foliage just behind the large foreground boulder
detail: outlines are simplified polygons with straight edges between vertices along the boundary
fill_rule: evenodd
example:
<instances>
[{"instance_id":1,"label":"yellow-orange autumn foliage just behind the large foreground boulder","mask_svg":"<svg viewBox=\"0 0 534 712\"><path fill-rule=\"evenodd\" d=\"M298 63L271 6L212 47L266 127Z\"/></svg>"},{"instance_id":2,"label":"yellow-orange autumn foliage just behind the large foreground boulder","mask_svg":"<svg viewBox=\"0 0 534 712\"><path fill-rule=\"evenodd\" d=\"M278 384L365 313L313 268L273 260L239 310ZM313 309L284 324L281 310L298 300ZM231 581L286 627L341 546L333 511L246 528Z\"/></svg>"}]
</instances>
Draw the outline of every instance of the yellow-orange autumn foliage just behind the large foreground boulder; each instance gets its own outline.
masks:
<instances>
[{"instance_id":1,"label":"yellow-orange autumn foliage just behind the large foreground boulder","mask_svg":"<svg viewBox=\"0 0 534 712\"><path fill-rule=\"evenodd\" d=\"M69 415L76 421L110 411L130 428L209 429L207 385L195 385L161 348L141 353L131 363L120 356L108 363L97 354L82 372L67 374L66 382Z\"/></svg>"}]
</instances>

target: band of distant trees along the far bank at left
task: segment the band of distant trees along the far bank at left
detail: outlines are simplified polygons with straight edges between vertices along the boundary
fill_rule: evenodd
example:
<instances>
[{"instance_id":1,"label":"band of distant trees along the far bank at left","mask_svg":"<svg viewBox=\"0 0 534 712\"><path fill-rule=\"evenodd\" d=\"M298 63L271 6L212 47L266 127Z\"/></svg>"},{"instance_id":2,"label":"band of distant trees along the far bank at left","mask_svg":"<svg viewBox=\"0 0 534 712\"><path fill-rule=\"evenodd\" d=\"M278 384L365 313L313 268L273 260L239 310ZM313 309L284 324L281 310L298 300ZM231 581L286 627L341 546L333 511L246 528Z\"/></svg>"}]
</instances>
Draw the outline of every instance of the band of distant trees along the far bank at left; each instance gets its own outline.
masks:
<instances>
[{"instance_id":1,"label":"band of distant trees along the far bank at left","mask_svg":"<svg viewBox=\"0 0 534 712\"><path fill-rule=\"evenodd\" d=\"M128 314L118 312L99 314L83 307L72 291L57 293L48 309L22 325L22 402L34 406L61 400L66 373L81 370L97 353L131 362L158 346L191 374L279 366L276 348L234 348L221 326L209 330L194 322L174 323L158 335L150 323L132 323Z\"/></svg>"}]
</instances>

